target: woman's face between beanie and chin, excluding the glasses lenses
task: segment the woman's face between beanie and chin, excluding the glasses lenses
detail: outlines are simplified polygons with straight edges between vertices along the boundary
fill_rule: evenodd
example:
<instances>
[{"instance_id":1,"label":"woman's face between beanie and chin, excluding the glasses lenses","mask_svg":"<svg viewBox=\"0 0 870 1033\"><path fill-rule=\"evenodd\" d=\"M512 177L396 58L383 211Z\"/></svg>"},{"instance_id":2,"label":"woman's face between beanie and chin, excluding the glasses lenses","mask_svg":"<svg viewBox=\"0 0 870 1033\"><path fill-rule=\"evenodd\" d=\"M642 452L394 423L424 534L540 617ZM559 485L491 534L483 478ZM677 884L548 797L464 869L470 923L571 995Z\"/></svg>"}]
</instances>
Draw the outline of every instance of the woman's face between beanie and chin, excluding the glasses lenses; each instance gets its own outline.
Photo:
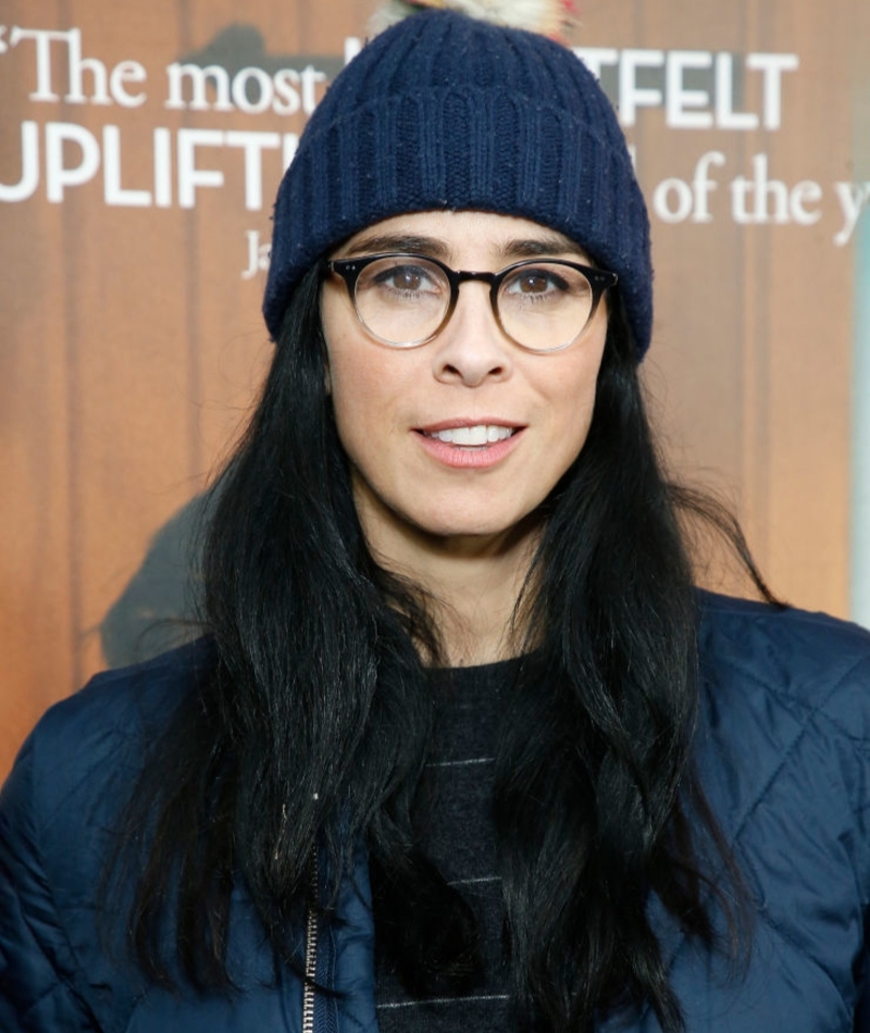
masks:
<instances>
[{"instance_id":1,"label":"woman's face between beanie and chin, excluding the glasses lenses","mask_svg":"<svg viewBox=\"0 0 870 1033\"><path fill-rule=\"evenodd\" d=\"M588 262L545 226L487 212L397 215L358 233L333 258L390 250L489 272L532 256ZM586 440L605 303L573 344L546 354L502 334L485 283L462 284L447 326L415 348L390 348L368 334L335 274L324 281L321 311L328 389L370 546L401 555L402 544L423 536L474 550L514 528L533 533L525 518ZM486 444L462 444L478 440L481 427ZM460 428L473 430L449 440L445 432Z\"/></svg>"}]
</instances>

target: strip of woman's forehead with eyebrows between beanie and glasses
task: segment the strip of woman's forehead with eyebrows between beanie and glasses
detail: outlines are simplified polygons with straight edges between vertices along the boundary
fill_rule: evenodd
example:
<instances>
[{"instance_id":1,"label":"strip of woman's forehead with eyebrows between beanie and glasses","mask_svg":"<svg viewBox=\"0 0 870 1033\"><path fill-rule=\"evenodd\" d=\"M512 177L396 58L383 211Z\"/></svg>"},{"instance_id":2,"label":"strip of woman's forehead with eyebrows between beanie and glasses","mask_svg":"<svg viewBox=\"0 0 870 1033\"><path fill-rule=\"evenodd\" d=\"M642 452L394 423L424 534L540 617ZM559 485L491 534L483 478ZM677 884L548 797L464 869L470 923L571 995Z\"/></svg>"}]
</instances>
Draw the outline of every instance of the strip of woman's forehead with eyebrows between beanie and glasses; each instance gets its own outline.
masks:
<instances>
[{"instance_id":1,"label":"strip of woman's forehead with eyebrows between beanie and glasses","mask_svg":"<svg viewBox=\"0 0 870 1033\"><path fill-rule=\"evenodd\" d=\"M333 257L378 251L418 251L469 266L538 254L588 260L580 245L548 226L517 215L477 211L394 215L355 234Z\"/></svg>"}]
</instances>

